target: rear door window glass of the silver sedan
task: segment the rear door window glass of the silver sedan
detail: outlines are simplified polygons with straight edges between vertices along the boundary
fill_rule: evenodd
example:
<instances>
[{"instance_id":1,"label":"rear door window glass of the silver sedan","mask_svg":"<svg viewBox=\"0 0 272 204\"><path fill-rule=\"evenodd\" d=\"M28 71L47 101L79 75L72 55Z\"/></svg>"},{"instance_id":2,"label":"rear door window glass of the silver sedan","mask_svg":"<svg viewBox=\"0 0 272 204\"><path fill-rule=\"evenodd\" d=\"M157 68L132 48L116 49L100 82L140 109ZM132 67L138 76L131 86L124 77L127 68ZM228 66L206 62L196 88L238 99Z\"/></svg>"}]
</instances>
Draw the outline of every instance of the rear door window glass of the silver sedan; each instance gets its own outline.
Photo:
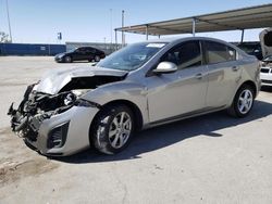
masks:
<instances>
[{"instance_id":1,"label":"rear door window glass of the silver sedan","mask_svg":"<svg viewBox=\"0 0 272 204\"><path fill-rule=\"evenodd\" d=\"M215 64L236 60L236 50L223 43L205 41L206 61Z\"/></svg>"}]
</instances>

